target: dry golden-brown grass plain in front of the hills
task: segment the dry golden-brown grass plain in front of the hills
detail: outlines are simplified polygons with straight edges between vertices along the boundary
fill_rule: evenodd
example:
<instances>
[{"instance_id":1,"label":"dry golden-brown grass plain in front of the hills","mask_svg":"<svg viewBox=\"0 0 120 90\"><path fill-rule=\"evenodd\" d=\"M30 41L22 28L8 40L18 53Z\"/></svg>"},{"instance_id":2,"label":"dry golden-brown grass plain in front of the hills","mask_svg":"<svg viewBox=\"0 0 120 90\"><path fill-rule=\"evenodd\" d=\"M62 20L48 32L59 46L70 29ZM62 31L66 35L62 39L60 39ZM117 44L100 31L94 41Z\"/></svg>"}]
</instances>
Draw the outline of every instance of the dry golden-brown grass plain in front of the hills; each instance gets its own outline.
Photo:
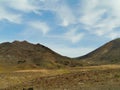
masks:
<instances>
[{"instance_id":1,"label":"dry golden-brown grass plain in front of the hills","mask_svg":"<svg viewBox=\"0 0 120 90\"><path fill-rule=\"evenodd\" d=\"M119 65L17 70L0 74L0 89L3 90L7 87L6 90L22 90L29 87L35 90L40 88L43 88L41 90L64 90L65 88L68 88L67 90L109 90L108 87L111 85L113 89L110 90L120 85Z\"/></svg>"}]
</instances>

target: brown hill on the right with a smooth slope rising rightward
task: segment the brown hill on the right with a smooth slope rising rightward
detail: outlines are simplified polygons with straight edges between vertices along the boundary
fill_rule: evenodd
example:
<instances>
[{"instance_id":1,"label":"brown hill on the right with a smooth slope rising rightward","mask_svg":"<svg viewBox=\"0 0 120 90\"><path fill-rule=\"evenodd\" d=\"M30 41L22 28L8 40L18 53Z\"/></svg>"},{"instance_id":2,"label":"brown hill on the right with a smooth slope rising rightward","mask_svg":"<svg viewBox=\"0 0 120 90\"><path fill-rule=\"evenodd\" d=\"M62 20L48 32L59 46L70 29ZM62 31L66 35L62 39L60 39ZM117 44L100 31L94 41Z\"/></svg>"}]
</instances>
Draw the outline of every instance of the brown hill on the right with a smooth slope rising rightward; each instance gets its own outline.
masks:
<instances>
[{"instance_id":1,"label":"brown hill on the right with a smooth slope rising rightward","mask_svg":"<svg viewBox=\"0 0 120 90\"><path fill-rule=\"evenodd\" d=\"M76 59L84 65L120 64L120 38Z\"/></svg>"}]
</instances>

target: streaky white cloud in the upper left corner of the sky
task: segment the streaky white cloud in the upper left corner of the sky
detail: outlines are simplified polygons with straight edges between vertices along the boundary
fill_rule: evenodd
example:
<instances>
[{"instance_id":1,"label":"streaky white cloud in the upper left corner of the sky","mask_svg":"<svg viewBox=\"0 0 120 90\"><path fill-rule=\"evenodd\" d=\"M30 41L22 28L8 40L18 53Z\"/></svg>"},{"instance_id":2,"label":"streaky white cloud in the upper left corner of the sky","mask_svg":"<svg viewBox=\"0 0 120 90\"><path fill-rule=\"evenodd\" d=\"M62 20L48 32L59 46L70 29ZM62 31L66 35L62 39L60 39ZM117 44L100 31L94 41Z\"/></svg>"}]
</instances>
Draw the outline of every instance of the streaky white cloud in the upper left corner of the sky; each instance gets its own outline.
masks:
<instances>
[{"instance_id":1,"label":"streaky white cloud in the upper left corner of the sky","mask_svg":"<svg viewBox=\"0 0 120 90\"><path fill-rule=\"evenodd\" d=\"M39 14L38 7L34 4L36 0L2 0L0 1L0 20L12 23L21 23L23 12L34 12ZM16 10L16 12L14 11Z\"/></svg>"}]
</instances>

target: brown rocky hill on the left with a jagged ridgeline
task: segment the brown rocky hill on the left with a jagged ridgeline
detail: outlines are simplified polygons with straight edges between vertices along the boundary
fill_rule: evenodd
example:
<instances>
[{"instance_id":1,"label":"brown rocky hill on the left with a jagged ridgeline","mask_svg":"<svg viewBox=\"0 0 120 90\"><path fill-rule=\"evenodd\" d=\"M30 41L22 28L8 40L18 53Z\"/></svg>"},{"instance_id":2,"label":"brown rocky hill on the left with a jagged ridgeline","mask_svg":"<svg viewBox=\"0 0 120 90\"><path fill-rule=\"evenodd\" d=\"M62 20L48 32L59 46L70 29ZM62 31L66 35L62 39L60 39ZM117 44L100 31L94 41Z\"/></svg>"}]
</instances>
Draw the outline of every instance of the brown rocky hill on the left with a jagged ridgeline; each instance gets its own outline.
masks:
<instances>
[{"instance_id":1,"label":"brown rocky hill on the left with a jagged ridgeline","mask_svg":"<svg viewBox=\"0 0 120 90\"><path fill-rule=\"evenodd\" d=\"M61 56L41 44L27 41L0 44L0 69L61 68L78 64L78 61Z\"/></svg>"}]
</instances>

